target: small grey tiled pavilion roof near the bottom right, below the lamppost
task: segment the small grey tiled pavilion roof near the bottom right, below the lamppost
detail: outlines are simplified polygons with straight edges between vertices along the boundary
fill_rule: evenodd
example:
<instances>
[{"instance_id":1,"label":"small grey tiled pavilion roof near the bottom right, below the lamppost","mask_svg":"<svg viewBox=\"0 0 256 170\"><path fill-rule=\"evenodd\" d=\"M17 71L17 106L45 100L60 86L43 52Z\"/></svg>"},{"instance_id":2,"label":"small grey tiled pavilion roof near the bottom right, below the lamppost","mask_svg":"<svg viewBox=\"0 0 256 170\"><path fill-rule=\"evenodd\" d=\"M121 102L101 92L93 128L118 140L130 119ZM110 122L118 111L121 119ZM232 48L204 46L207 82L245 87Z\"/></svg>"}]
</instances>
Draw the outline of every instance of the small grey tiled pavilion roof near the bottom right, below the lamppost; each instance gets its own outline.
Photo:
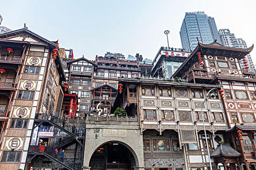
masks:
<instances>
[{"instance_id":1,"label":"small grey tiled pavilion roof near the bottom right, below the lamppost","mask_svg":"<svg viewBox=\"0 0 256 170\"><path fill-rule=\"evenodd\" d=\"M218 147L210 154L211 157L219 156L240 156L241 154L231 148L228 144L219 144Z\"/></svg>"}]
</instances>

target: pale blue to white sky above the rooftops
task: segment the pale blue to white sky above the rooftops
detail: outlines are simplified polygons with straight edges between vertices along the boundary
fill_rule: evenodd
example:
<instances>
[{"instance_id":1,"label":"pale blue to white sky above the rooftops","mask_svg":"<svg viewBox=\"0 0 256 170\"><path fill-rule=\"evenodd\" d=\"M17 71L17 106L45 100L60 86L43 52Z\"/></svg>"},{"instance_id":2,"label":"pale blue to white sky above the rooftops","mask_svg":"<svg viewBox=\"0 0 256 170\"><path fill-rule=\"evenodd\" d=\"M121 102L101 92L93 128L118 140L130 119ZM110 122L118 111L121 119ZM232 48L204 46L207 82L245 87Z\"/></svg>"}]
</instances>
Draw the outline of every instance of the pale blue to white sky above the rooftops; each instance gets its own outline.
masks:
<instances>
[{"instance_id":1,"label":"pale blue to white sky above the rooftops","mask_svg":"<svg viewBox=\"0 0 256 170\"><path fill-rule=\"evenodd\" d=\"M255 1L3 1L2 26L27 27L60 47L73 48L75 58L103 56L106 51L127 57L139 53L154 59L160 46L182 47L179 31L185 12L204 11L217 28L228 28L247 46L255 43ZM252 21L251 21L252 19ZM254 33L254 34L252 34ZM256 50L251 53L256 64ZM254 59L255 58L255 59Z\"/></svg>"}]
</instances>

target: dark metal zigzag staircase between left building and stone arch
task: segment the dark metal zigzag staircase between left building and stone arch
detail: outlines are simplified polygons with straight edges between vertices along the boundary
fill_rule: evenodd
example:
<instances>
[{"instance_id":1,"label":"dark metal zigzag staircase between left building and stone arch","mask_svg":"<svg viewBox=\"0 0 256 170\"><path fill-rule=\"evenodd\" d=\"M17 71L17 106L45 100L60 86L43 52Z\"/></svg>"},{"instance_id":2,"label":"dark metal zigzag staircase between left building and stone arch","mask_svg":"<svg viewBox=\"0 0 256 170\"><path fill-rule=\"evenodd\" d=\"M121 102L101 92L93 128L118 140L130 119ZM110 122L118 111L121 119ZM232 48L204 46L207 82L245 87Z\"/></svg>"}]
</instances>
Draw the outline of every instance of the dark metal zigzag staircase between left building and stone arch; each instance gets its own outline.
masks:
<instances>
[{"instance_id":1,"label":"dark metal zigzag staircase between left building and stone arch","mask_svg":"<svg viewBox=\"0 0 256 170\"><path fill-rule=\"evenodd\" d=\"M33 129L44 124L50 124L58 128L60 131L65 132L67 135L55 136L55 138L52 139L50 143L48 143L47 147L45 147L43 152L40 151L42 146L30 145L29 154L34 156L32 156L32 158L27 161L27 163L30 162L35 157L35 155L40 154L57 162L67 169L81 169L82 160L64 157L63 161L61 161L60 152L61 149L69 147L71 144L76 142L79 143L83 149L82 140L84 140L85 137L85 126L77 127L77 124L75 124L76 128L72 129L73 123L67 123L65 118L56 118L51 114L37 113ZM55 155L55 149L58 149L57 155Z\"/></svg>"}]
</instances>

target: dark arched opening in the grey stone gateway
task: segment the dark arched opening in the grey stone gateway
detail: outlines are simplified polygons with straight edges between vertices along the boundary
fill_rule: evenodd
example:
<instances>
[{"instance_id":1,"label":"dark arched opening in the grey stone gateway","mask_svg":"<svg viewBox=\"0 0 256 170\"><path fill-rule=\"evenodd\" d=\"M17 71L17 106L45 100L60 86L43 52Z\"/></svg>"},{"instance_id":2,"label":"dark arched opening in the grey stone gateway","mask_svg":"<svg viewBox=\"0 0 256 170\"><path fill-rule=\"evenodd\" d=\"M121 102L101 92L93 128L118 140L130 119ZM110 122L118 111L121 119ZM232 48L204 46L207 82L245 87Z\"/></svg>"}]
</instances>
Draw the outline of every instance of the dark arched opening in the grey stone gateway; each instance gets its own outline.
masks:
<instances>
[{"instance_id":1,"label":"dark arched opening in the grey stone gateway","mask_svg":"<svg viewBox=\"0 0 256 170\"><path fill-rule=\"evenodd\" d=\"M125 143L111 141L98 147L91 159L91 170L130 170L138 164L134 151ZM138 166L138 165L137 165Z\"/></svg>"}]
</instances>

